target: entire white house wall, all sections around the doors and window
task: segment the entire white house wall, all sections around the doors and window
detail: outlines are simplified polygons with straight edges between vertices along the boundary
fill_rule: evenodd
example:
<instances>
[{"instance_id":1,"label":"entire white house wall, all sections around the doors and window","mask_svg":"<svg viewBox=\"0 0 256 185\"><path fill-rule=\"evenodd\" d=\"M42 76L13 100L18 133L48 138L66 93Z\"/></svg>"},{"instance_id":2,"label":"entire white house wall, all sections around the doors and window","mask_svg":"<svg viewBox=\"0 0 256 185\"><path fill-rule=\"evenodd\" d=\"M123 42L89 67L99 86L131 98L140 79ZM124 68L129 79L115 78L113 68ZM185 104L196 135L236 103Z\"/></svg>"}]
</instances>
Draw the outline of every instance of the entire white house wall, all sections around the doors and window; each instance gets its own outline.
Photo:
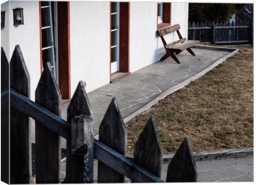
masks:
<instances>
[{"instance_id":1,"label":"entire white house wall, all sections around the doors and window","mask_svg":"<svg viewBox=\"0 0 256 185\"><path fill-rule=\"evenodd\" d=\"M24 25L13 25L12 9L17 7L24 8ZM20 45L31 76L31 99L34 100L40 79L39 3L10 1L2 4L1 9L6 9L5 22L7 25L9 18L10 35L8 37L8 26L1 29L1 46L10 59L15 45ZM156 2L130 2L130 72L158 61L165 53L156 34L156 15ZM183 37L187 37L187 21L188 3L172 3L171 24L180 24ZM109 2L70 2L71 96L80 80L86 81L87 92L109 83L109 30ZM176 39L176 33L166 37L168 42Z\"/></svg>"}]
</instances>

